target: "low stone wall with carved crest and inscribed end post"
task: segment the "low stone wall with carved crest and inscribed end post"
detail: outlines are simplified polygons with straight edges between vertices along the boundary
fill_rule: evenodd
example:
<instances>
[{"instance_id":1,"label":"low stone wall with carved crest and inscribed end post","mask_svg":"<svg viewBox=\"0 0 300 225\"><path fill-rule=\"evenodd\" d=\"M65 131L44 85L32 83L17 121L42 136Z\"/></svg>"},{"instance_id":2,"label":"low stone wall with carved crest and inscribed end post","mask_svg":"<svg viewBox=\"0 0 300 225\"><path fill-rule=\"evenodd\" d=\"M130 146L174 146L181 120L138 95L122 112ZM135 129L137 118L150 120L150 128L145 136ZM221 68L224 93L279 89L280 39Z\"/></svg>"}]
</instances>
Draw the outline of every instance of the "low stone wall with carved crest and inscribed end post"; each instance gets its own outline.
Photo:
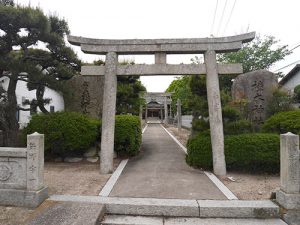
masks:
<instances>
[{"instance_id":1,"label":"low stone wall with carved crest and inscribed end post","mask_svg":"<svg viewBox=\"0 0 300 225\"><path fill-rule=\"evenodd\" d=\"M0 205L37 207L44 186L44 135L27 136L27 148L0 148Z\"/></svg>"}]
</instances>

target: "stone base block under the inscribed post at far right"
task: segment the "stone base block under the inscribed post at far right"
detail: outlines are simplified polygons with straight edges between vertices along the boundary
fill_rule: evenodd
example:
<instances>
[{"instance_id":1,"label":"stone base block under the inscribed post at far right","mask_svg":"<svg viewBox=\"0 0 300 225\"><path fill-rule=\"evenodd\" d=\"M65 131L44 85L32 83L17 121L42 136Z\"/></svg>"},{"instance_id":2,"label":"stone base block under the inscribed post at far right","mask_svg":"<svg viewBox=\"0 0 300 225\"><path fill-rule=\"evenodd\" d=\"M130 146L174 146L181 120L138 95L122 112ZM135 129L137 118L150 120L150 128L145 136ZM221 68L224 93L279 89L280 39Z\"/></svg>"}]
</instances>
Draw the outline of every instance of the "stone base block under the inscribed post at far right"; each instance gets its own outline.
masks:
<instances>
[{"instance_id":1,"label":"stone base block under the inscribed post at far right","mask_svg":"<svg viewBox=\"0 0 300 225\"><path fill-rule=\"evenodd\" d=\"M287 194L279 190L276 192L276 201L285 209L300 210L300 194Z\"/></svg>"}]
</instances>

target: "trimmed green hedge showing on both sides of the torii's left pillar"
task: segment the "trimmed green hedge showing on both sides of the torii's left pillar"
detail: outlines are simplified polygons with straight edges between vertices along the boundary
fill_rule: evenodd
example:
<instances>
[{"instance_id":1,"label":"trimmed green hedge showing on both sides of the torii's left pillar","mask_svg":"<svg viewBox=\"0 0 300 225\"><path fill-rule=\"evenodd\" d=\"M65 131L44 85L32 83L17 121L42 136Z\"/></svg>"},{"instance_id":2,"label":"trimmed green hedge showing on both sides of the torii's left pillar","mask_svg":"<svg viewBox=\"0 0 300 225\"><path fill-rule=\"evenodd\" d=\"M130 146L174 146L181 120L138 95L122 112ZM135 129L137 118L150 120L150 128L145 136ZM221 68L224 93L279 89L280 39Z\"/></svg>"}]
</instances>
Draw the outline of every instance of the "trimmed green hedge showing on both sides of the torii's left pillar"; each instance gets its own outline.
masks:
<instances>
[{"instance_id":1,"label":"trimmed green hedge showing on both sides of the torii's left pillar","mask_svg":"<svg viewBox=\"0 0 300 225\"><path fill-rule=\"evenodd\" d=\"M36 114L23 130L26 135L45 134L45 152L50 155L82 154L101 140L101 121L76 112ZM118 115L115 123L115 151L121 156L138 154L142 131L138 116Z\"/></svg>"}]
</instances>

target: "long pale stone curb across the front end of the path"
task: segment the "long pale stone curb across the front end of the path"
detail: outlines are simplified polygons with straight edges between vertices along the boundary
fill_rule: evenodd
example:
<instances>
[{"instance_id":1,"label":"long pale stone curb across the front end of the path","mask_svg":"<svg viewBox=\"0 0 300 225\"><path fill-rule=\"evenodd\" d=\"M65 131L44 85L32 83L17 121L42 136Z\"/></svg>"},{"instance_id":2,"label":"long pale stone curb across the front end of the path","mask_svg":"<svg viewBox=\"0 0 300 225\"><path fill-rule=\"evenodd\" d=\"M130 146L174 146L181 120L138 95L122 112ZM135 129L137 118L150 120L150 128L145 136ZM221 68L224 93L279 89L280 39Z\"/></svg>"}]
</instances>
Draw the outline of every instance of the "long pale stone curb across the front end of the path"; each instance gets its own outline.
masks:
<instances>
[{"instance_id":1,"label":"long pale stone curb across the front end of the path","mask_svg":"<svg viewBox=\"0 0 300 225\"><path fill-rule=\"evenodd\" d=\"M217 218L278 218L270 200L184 200L53 195L50 200L105 204L109 214Z\"/></svg>"}]
</instances>

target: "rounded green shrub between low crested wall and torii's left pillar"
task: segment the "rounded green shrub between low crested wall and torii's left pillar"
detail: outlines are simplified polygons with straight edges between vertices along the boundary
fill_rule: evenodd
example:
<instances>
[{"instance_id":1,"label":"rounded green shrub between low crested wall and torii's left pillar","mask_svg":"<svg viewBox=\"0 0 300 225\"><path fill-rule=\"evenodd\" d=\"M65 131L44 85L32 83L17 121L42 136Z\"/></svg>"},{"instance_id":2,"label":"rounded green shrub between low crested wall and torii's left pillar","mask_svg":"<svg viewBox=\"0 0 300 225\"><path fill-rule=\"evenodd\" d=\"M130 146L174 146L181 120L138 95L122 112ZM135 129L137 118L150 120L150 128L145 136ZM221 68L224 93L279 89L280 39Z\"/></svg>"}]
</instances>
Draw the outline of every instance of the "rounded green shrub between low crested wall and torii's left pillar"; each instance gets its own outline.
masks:
<instances>
[{"instance_id":1,"label":"rounded green shrub between low crested wall and torii's left pillar","mask_svg":"<svg viewBox=\"0 0 300 225\"><path fill-rule=\"evenodd\" d=\"M97 139L100 122L76 112L33 115L24 135L45 135L45 152L60 156L83 153Z\"/></svg>"}]
</instances>

